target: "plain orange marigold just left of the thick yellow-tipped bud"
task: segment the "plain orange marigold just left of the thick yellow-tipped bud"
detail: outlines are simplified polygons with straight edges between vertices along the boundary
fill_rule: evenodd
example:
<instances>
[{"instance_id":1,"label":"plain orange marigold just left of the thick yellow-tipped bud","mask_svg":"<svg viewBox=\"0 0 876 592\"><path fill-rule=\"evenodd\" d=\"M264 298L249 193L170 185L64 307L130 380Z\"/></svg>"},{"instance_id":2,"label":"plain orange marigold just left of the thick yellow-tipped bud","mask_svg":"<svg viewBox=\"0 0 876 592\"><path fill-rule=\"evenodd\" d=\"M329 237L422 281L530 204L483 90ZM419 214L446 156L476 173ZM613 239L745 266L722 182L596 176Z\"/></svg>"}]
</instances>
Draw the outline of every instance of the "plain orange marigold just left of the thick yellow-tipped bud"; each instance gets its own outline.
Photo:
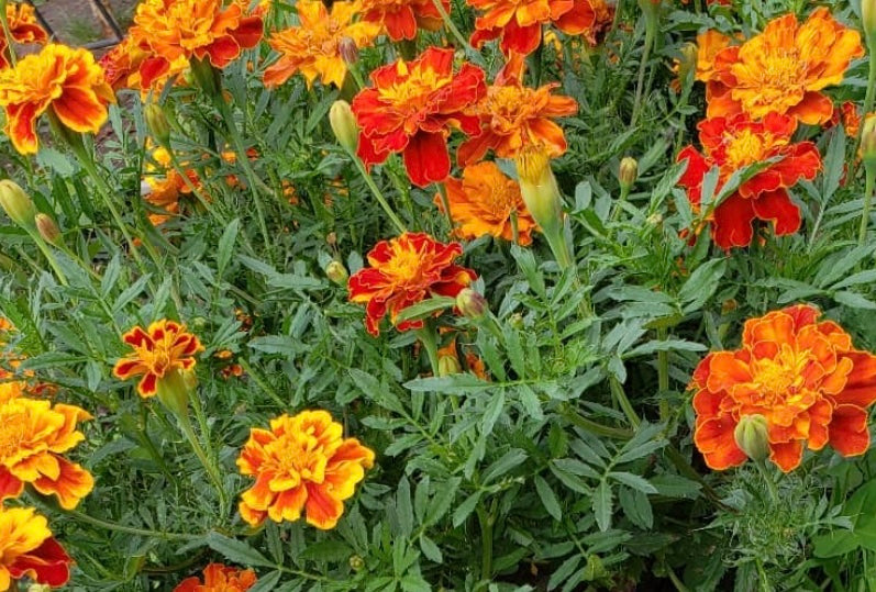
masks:
<instances>
[{"instance_id":1,"label":"plain orange marigold just left of the thick yellow-tipped bud","mask_svg":"<svg viewBox=\"0 0 876 592\"><path fill-rule=\"evenodd\" d=\"M463 170L462 179L450 177L444 186L447 189L451 217L457 224L454 234L459 238L478 238L489 234L513 241L511 219L514 216L519 243L532 244L535 221L523 203L520 186L495 163L469 165ZM444 211L441 196L435 196L435 204Z\"/></svg>"}]
</instances>

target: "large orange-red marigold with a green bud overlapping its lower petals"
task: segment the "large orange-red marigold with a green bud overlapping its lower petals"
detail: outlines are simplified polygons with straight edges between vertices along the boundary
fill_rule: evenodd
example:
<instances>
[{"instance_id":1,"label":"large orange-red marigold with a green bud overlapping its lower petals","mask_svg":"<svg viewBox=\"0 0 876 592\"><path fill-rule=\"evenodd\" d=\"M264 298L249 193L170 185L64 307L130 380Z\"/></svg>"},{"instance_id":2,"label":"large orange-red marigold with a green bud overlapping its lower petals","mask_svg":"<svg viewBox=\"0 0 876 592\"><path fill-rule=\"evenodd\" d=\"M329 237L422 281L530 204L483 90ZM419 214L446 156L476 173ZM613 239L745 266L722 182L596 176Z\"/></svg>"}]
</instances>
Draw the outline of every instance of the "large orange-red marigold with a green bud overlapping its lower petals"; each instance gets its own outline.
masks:
<instances>
[{"instance_id":1,"label":"large orange-red marigold with a green bud overlapping its lower petals","mask_svg":"<svg viewBox=\"0 0 876 592\"><path fill-rule=\"evenodd\" d=\"M766 418L769 458L786 472L800 463L805 444L830 444L843 456L867 450L876 356L819 315L800 304L749 320L739 349L713 351L694 371L694 442L710 468L745 462L733 437L745 415Z\"/></svg>"}]
</instances>

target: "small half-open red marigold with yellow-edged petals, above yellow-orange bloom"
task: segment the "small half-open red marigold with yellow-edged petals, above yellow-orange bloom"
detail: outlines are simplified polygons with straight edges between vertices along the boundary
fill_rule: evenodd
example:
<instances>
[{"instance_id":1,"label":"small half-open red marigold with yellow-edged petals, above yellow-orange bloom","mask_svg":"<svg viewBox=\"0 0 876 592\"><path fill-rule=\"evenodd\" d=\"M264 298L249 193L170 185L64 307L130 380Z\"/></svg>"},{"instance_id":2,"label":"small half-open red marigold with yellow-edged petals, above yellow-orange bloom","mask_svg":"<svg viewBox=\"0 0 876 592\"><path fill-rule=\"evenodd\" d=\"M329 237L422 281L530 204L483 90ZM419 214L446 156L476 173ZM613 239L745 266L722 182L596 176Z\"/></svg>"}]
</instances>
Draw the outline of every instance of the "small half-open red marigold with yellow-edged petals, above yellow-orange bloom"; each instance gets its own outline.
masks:
<instances>
[{"instance_id":1,"label":"small half-open red marigold with yellow-edged petals, above yellow-orange bloom","mask_svg":"<svg viewBox=\"0 0 876 592\"><path fill-rule=\"evenodd\" d=\"M142 376L137 392L144 398L157 394L165 375L195 368L193 356L203 350L198 337L186 333L186 325L167 320L152 323L148 329L136 326L122 340L134 353L117 361L112 372L120 380Z\"/></svg>"}]
</instances>

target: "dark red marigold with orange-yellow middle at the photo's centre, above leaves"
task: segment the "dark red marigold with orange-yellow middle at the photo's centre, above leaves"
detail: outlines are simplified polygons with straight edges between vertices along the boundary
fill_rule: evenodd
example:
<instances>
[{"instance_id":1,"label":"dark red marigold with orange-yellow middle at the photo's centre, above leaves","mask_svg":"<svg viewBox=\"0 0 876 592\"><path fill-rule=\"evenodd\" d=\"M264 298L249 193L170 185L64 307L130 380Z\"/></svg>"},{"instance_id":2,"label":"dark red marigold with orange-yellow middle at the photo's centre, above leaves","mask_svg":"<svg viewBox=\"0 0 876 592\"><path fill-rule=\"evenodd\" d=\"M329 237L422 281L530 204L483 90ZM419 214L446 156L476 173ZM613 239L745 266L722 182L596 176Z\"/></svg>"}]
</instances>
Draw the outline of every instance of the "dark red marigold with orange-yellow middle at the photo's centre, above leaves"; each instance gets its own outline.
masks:
<instances>
[{"instance_id":1,"label":"dark red marigold with orange-yellow middle at the photo's centre, above leaves","mask_svg":"<svg viewBox=\"0 0 876 592\"><path fill-rule=\"evenodd\" d=\"M380 241L368 253L370 267L359 269L347 282L351 302L365 304L365 326L380 334L380 320L389 320L398 331L420 328L423 322L396 323L399 313L435 295L456 298L477 275L453 261L463 254L459 243L445 245L425 233L404 233Z\"/></svg>"}]
</instances>

